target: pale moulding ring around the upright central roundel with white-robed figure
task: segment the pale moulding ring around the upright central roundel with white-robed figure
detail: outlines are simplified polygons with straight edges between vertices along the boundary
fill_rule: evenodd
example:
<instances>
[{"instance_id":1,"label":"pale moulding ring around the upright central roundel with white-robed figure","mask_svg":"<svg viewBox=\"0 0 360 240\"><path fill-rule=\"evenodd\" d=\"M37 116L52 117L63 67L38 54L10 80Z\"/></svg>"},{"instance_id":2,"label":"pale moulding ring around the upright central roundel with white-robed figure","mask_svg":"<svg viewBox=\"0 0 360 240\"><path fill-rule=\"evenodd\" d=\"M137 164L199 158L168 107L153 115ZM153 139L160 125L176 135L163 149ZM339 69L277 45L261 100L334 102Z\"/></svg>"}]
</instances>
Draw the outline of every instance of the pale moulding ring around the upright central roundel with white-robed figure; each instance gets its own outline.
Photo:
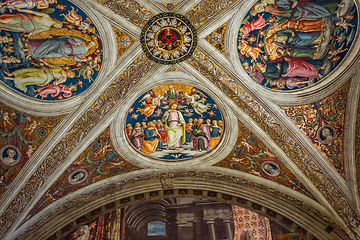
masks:
<instances>
[{"instance_id":1,"label":"pale moulding ring around the upright central roundel with white-robed figure","mask_svg":"<svg viewBox=\"0 0 360 240\"><path fill-rule=\"evenodd\" d=\"M178 160L178 161L165 161L155 158L150 158L146 154L142 154L137 151L127 139L125 134L126 127L126 113L128 112L131 105L139 97L133 95L128 101L121 106L118 111L118 115L113 121L110 134L111 139L114 144L115 150L127 161L139 166L139 167L156 167L156 168L176 168L179 166L189 166L189 165L198 165L206 164L212 165L216 162L224 159L232 150L232 147L235 145L238 137L238 124L235 115L232 113L230 108L225 105L221 99L218 97L215 91L211 90L207 86L201 84L196 78L189 76L182 72L163 72L159 75L155 75L143 81L143 84L138 85L136 89L133 89L132 92L141 92L144 93L154 87L157 87L162 84L171 84L171 83L183 83L191 86L198 87L206 94L210 95L212 99L218 104L218 107L221 111L223 121L225 124L225 131L222 134L222 138L217 145L211 149L208 153L201 155L196 158L191 158L189 160Z\"/></svg>"}]
</instances>

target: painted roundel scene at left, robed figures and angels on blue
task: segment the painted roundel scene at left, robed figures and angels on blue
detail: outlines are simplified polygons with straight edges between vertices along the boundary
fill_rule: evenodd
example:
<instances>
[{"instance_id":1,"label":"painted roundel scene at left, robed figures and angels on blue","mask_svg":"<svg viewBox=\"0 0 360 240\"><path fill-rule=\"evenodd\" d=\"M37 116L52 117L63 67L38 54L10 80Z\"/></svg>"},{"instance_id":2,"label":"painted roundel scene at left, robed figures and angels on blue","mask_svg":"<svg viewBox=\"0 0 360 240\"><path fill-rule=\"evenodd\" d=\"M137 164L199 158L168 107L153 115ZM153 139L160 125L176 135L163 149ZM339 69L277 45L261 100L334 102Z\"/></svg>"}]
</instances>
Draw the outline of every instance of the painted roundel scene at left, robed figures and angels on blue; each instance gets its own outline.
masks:
<instances>
[{"instance_id":1,"label":"painted roundel scene at left, robed figures and angels on blue","mask_svg":"<svg viewBox=\"0 0 360 240\"><path fill-rule=\"evenodd\" d=\"M0 79L42 100L78 95L101 67L102 43L92 21L69 1L0 2Z\"/></svg>"}]
</instances>

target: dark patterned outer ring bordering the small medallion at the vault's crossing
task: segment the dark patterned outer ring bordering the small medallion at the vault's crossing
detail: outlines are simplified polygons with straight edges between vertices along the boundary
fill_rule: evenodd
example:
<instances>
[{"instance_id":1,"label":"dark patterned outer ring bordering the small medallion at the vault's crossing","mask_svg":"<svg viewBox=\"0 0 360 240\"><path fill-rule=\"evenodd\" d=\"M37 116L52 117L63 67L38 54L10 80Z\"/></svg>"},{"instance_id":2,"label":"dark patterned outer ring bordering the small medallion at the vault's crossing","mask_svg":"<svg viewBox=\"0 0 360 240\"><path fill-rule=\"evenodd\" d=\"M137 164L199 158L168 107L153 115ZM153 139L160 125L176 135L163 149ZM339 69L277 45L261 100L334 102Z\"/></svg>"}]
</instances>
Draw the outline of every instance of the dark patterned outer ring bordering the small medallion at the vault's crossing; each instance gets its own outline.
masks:
<instances>
[{"instance_id":1,"label":"dark patterned outer ring bordering the small medallion at the vault's crossing","mask_svg":"<svg viewBox=\"0 0 360 240\"><path fill-rule=\"evenodd\" d=\"M149 52L149 50L146 47L145 44L145 34L146 31L148 30L148 28L158 19L163 18L163 17L176 17L179 18L181 21L183 21L192 31L193 34L193 42L192 42L192 46L190 51L183 57L180 57L179 59L176 60L170 60L170 61L164 61L164 60L160 60L155 58L153 55L151 55L151 53ZM183 15L177 14L177 13L172 13L172 12L167 12L167 13L160 13L158 15L153 16L143 27L142 31L141 31L141 35L140 35L140 42L141 42L141 47L144 51L144 53L146 54L146 56L156 62L156 63L160 63L160 64L165 64L165 65L170 65L170 64L176 64L182 61L185 61L186 59L188 59L189 57L191 57L191 55L193 54L193 52L195 51L196 45L197 45L197 33L196 33L196 29L193 27L193 25L190 23L190 21L184 17Z\"/></svg>"}]
</instances>

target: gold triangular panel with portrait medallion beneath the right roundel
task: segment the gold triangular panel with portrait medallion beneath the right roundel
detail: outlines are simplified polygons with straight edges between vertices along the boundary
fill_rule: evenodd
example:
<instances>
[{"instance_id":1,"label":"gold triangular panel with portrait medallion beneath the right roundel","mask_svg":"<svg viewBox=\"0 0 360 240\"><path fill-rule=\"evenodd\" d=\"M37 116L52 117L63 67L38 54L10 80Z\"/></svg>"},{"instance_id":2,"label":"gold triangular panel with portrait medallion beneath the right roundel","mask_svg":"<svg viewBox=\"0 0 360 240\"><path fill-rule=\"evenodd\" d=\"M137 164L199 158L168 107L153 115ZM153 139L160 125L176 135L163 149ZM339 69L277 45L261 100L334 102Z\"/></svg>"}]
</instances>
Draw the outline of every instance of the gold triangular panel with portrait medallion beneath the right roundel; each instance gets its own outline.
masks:
<instances>
[{"instance_id":1,"label":"gold triangular panel with portrait medallion beneath the right roundel","mask_svg":"<svg viewBox=\"0 0 360 240\"><path fill-rule=\"evenodd\" d=\"M281 107L343 178L345 107L349 85L350 82L346 83L338 91L316 103Z\"/></svg>"}]
</instances>

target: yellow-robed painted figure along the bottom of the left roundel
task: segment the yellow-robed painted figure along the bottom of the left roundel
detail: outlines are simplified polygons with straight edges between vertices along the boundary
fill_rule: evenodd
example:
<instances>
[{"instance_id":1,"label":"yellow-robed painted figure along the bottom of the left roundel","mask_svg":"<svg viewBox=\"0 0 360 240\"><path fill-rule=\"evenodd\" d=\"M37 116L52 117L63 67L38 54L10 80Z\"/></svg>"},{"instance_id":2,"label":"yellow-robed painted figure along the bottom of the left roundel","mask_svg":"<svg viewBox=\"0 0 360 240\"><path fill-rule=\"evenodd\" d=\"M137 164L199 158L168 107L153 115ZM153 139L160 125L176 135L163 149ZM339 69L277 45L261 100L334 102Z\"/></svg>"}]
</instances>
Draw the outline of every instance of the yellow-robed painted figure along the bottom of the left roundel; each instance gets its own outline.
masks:
<instances>
[{"instance_id":1,"label":"yellow-robed painted figure along the bottom of the left roundel","mask_svg":"<svg viewBox=\"0 0 360 240\"><path fill-rule=\"evenodd\" d=\"M65 82L67 78L75 77L75 73L72 71L66 71L61 67L51 64L47 65L48 67L44 68L23 68L12 73L4 71L7 75L4 76L4 79L14 81L16 88L27 92L27 85L45 86L52 80L55 80L53 85L59 85Z\"/></svg>"}]
</instances>

